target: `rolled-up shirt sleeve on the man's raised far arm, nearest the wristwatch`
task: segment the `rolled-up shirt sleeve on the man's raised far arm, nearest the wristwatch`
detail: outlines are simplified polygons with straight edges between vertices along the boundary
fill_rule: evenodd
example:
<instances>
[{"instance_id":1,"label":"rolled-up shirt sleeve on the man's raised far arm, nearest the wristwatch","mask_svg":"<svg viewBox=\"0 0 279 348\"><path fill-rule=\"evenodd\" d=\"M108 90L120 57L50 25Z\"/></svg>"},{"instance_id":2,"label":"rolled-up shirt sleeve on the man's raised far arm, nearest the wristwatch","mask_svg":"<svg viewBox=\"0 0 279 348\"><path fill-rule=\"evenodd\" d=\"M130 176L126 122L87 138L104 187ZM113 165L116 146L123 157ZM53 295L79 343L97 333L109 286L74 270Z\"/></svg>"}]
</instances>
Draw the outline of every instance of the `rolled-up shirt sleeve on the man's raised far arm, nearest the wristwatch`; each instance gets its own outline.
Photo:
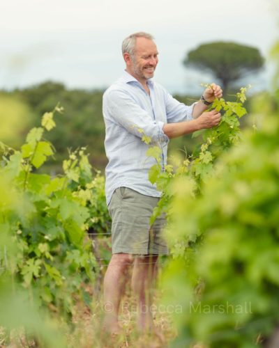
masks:
<instances>
[{"instance_id":1,"label":"rolled-up shirt sleeve on the man's raised far arm, nearest the wristwatch","mask_svg":"<svg viewBox=\"0 0 279 348\"><path fill-rule=\"evenodd\" d=\"M196 102L188 106L176 100L169 93L165 93L165 105L167 112L167 122L176 123L193 120L193 109Z\"/></svg>"}]
</instances>

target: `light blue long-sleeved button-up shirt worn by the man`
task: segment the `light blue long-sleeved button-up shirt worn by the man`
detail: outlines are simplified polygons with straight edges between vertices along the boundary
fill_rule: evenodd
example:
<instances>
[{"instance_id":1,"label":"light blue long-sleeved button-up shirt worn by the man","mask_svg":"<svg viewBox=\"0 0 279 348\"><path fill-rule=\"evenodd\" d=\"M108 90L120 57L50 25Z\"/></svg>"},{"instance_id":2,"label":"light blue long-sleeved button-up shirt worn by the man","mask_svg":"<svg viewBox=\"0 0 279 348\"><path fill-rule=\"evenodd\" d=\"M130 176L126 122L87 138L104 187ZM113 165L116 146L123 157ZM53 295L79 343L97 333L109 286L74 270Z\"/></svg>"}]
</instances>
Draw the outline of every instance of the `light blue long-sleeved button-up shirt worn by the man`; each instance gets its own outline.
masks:
<instances>
[{"instance_id":1,"label":"light blue long-sleeved button-up shirt worn by the man","mask_svg":"<svg viewBox=\"0 0 279 348\"><path fill-rule=\"evenodd\" d=\"M149 169L156 161L147 157L146 151L150 145L158 145L164 168L169 142L163 132L164 124L192 120L195 103L186 106L151 79L147 84L150 95L125 71L103 95L105 152L109 160L105 168L107 205L114 190L122 186L147 196L160 197L156 184L149 182ZM143 134L151 138L149 145L142 141Z\"/></svg>"}]
</instances>

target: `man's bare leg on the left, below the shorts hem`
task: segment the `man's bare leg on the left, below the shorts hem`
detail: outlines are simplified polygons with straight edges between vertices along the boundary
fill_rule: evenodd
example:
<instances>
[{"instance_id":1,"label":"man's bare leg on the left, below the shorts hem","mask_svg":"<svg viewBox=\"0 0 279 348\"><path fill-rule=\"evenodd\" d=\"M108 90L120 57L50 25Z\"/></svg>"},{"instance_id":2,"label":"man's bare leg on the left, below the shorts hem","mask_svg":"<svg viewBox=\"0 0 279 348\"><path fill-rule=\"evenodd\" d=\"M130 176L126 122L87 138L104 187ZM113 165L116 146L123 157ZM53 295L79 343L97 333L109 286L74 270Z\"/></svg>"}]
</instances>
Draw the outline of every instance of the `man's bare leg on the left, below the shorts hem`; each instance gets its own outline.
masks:
<instances>
[{"instance_id":1,"label":"man's bare leg on the left, below the shorts hem","mask_svg":"<svg viewBox=\"0 0 279 348\"><path fill-rule=\"evenodd\" d=\"M126 253L112 255L104 278L104 327L111 333L119 333L119 306L127 282L128 267L133 264L133 256Z\"/></svg>"}]
</instances>

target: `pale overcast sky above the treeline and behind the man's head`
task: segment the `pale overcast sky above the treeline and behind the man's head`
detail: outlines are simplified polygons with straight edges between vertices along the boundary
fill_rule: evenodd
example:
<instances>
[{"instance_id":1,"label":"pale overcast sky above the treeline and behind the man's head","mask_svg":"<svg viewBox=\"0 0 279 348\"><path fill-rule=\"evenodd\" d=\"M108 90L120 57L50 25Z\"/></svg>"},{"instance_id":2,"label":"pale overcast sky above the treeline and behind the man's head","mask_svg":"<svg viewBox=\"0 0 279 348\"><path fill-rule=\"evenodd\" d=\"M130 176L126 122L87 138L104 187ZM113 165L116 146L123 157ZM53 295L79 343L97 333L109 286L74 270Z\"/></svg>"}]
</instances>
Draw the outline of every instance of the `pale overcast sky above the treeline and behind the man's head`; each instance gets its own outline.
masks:
<instances>
[{"instance_id":1,"label":"pale overcast sky above the treeline and behind the man's head","mask_svg":"<svg viewBox=\"0 0 279 348\"><path fill-rule=\"evenodd\" d=\"M125 68L123 38L146 31L158 47L156 81L170 93L195 94L215 80L183 66L190 49L224 40L267 56L279 38L278 12L276 0L1 0L0 88L46 80L107 88ZM267 63L243 83L264 89L271 71Z\"/></svg>"}]
</instances>

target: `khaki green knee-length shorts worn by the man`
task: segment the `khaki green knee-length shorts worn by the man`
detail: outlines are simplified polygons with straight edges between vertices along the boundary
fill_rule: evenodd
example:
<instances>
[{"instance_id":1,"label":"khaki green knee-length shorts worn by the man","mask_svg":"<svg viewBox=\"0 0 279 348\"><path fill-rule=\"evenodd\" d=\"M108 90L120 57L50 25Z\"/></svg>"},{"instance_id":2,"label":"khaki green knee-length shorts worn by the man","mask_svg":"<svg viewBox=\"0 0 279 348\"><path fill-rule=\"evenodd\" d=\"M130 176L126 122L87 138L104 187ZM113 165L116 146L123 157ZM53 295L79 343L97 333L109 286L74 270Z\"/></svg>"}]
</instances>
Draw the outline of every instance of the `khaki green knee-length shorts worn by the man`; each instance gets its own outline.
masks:
<instances>
[{"instance_id":1,"label":"khaki green knee-length shorts worn by the man","mask_svg":"<svg viewBox=\"0 0 279 348\"><path fill-rule=\"evenodd\" d=\"M112 217L112 253L166 255L162 236L165 216L150 226L150 216L160 198L143 195L128 187L116 189L108 206Z\"/></svg>"}]
</instances>

